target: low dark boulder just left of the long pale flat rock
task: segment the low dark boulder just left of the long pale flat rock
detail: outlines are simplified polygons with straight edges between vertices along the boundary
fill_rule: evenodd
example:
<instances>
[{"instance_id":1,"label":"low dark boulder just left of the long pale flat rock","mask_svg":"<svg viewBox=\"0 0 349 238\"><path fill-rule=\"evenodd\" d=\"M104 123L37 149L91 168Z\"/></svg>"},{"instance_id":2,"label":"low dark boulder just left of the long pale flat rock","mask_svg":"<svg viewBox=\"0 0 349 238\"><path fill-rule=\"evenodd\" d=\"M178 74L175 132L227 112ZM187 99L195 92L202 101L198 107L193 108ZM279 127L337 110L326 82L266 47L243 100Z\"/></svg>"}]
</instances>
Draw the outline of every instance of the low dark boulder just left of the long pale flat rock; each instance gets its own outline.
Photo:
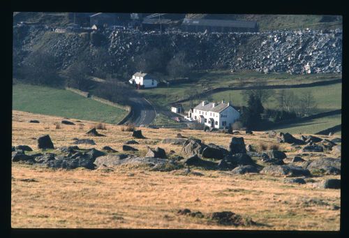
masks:
<instances>
[{"instance_id":1,"label":"low dark boulder just left of the long pale flat rock","mask_svg":"<svg viewBox=\"0 0 349 238\"><path fill-rule=\"evenodd\" d=\"M48 168L63 168L67 170L73 170L75 168L87 168L93 170L95 165L89 158L66 158L61 160L47 161L46 166Z\"/></svg>"}]
</instances>

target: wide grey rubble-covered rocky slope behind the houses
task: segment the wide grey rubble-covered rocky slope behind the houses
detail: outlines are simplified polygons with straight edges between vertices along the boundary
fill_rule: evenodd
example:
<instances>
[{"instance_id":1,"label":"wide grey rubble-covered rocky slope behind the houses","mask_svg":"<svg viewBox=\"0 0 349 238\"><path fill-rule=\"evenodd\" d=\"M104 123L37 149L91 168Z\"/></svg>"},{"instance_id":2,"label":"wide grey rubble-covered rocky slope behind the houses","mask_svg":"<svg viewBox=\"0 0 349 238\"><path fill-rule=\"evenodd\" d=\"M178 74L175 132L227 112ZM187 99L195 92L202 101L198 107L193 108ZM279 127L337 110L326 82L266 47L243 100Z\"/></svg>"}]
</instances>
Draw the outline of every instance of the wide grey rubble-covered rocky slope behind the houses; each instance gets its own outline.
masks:
<instances>
[{"instance_id":1,"label":"wide grey rubble-covered rocky slope behind the houses","mask_svg":"<svg viewBox=\"0 0 349 238\"><path fill-rule=\"evenodd\" d=\"M50 31L51 30L51 31ZM46 33L44 31L47 31ZM267 31L257 34L189 34L139 31L103 31L92 34L54 33L45 27L14 27L14 50L22 61L34 50L47 50L69 66L80 52L98 47L112 57L110 73L128 68L126 62L154 48L172 56L186 52L195 69L250 69L262 73L341 73L342 31ZM98 43L96 41L98 39ZM89 47L87 47L89 45ZM39 47L40 46L40 47Z\"/></svg>"}]
</instances>

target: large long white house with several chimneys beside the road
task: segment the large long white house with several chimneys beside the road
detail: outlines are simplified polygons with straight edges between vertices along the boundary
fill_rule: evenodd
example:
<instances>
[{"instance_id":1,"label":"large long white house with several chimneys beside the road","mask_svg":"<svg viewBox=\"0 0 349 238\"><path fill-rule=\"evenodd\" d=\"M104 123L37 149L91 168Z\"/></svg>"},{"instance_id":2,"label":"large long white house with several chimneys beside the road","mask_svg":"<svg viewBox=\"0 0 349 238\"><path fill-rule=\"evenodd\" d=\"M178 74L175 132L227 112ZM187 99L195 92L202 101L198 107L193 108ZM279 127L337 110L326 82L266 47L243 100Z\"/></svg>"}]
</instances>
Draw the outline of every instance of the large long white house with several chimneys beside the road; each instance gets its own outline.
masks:
<instances>
[{"instance_id":1,"label":"large long white house with several chimneys beside the road","mask_svg":"<svg viewBox=\"0 0 349 238\"><path fill-rule=\"evenodd\" d=\"M188 117L198 121L205 126L214 128L231 127L232 124L239 119L240 112L238 112L232 103L208 103L202 101L199 105L192 108L188 112Z\"/></svg>"}]
</instances>

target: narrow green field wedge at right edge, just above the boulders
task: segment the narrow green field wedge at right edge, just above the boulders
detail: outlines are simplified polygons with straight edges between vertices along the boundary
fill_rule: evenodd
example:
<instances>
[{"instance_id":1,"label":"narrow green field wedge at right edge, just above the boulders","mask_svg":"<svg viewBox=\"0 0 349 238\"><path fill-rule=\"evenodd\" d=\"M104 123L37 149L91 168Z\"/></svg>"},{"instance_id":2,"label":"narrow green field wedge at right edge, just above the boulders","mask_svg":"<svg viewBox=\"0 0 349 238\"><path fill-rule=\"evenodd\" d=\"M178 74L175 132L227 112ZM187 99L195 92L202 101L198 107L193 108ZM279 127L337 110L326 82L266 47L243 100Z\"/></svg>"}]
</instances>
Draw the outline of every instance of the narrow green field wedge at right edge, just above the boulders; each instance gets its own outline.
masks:
<instances>
[{"instance_id":1,"label":"narrow green field wedge at right edge, just above the boulders","mask_svg":"<svg viewBox=\"0 0 349 238\"><path fill-rule=\"evenodd\" d=\"M341 124L341 114L312 119L295 124L276 126L272 129L274 129L275 131L288 132L291 134L313 134L339 124ZM334 135L341 135L341 131L334 133Z\"/></svg>"}]
</instances>

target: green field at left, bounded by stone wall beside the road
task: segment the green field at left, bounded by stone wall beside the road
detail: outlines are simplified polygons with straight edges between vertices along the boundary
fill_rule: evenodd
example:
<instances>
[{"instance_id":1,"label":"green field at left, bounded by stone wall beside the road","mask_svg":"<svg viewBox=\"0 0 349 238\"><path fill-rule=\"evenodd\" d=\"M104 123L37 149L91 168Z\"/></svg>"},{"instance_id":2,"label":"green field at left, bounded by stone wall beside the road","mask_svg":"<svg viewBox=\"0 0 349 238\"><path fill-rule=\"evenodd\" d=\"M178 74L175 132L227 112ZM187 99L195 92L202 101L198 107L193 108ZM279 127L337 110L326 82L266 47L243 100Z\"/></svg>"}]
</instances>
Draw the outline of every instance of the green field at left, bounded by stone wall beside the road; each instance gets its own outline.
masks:
<instances>
[{"instance_id":1,"label":"green field at left, bounded by stone wall beside the road","mask_svg":"<svg viewBox=\"0 0 349 238\"><path fill-rule=\"evenodd\" d=\"M71 91L29 84L13 85L13 110L117 124L126 110Z\"/></svg>"}]
</instances>

